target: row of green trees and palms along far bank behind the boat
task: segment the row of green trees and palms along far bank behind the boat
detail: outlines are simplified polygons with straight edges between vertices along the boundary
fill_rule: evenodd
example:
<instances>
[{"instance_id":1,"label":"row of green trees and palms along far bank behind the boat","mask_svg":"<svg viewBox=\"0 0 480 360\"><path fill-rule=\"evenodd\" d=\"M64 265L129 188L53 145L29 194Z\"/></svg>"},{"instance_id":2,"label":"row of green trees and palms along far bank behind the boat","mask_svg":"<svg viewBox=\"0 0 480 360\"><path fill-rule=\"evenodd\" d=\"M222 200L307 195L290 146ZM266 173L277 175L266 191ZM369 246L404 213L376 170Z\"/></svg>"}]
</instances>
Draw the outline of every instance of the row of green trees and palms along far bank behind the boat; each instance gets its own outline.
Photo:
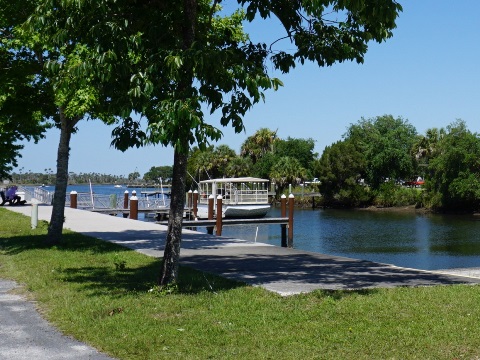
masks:
<instances>
[{"instance_id":1,"label":"row of green trees and palms along far bank behind the boat","mask_svg":"<svg viewBox=\"0 0 480 360\"><path fill-rule=\"evenodd\" d=\"M342 140L314 152L313 139L280 139L263 128L237 154L227 145L194 148L188 157L189 185L208 178L269 179L277 194L289 186L320 180L313 190L325 207L416 205L435 211L480 210L480 137L463 120L424 135L392 115L360 119ZM408 186L421 178L421 187Z\"/></svg>"}]
</instances>

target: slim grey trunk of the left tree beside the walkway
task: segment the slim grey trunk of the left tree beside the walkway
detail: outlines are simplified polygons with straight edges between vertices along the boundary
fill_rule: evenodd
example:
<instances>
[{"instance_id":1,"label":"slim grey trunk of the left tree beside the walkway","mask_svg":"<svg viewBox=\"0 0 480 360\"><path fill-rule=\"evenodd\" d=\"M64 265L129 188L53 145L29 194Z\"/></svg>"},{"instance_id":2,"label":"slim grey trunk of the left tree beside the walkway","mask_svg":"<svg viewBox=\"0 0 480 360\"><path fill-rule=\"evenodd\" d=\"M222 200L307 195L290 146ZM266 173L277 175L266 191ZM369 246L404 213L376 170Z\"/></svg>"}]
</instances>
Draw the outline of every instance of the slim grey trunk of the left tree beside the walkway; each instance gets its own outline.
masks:
<instances>
[{"instance_id":1,"label":"slim grey trunk of the left tree beside the walkway","mask_svg":"<svg viewBox=\"0 0 480 360\"><path fill-rule=\"evenodd\" d=\"M47 244L59 244L62 239L63 222L65 219L65 197L68 185L68 159L70 156L70 138L73 127L78 122L65 117L63 108L60 112L60 142L57 151L57 175L55 179L55 196L53 197L52 216L48 226Z\"/></svg>"}]
</instances>

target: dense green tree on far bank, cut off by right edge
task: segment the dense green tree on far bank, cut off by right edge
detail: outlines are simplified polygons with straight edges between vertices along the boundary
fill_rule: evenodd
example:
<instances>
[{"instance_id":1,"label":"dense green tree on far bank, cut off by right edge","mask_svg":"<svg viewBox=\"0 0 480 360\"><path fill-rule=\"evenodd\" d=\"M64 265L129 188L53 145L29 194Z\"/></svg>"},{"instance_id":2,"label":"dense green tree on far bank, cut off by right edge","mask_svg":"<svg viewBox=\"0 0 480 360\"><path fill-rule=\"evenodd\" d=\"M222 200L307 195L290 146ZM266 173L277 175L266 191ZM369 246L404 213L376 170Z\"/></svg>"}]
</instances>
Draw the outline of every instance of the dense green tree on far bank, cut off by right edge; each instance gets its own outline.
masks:
<instances>
[{"instance_id":1,"label":"dense green tree on far bank, cut off by right edge","mask_svg":"<svg viewBox=\"0 0 480 360\"><path fill-rule=\"evenodd\" d=\"M426 182L432 208L471 212L480 208L480 135L464 121L447 126L429 162Z\"/></svg>"}]
</instances>

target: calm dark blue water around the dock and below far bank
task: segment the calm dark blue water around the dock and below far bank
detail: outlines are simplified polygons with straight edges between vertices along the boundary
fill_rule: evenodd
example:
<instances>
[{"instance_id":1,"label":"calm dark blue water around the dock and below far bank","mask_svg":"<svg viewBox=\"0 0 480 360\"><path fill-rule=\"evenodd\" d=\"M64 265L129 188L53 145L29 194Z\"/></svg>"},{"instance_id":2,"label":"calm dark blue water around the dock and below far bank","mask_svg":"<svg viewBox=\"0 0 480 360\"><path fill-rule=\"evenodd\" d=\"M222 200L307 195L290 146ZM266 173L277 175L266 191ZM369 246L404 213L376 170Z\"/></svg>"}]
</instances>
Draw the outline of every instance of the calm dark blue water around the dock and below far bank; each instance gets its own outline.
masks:
<instances>
[{"instance_id":1,"label":"calm dark blue water around the dock and below far bank","mask_svg":"<svg viewBox=\"0 0 480 360\"><path fill-rule=\"evenodd\" d=\"M90 191L88 185L72 190ZM99 194L125 190L134 189L93 186ZM272 208L269 216L280 210ZM223 235L278 246L281 241L280 225L226 226ZM425 270L480 267L480 216L295 209L294 247Z\"/></svg>"}]
</instances>

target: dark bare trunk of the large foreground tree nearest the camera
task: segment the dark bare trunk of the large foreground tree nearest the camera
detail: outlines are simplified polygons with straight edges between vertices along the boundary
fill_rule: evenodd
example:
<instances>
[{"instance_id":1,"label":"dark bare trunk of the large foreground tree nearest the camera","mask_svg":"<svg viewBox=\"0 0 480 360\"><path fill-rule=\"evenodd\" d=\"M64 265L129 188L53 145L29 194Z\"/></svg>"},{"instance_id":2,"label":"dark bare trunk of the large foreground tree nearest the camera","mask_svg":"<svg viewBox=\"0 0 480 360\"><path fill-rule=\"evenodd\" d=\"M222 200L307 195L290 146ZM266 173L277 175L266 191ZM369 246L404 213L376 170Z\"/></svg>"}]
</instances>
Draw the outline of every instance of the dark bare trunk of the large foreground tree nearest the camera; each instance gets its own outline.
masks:
<instances>
[{"instance_id":1,"label":"dark bare trunk of the large foreground tree nearest the camera","mask_svg":"<svg viewBox=\"0 0 480 360\"><path fill-rule=\"evenodd\" d=\"M175 150L173 162L173 181L168 218L168 233L163 254L163 268L159 284L175 283L178 279L178 263L182 243L182 222L185 208L185 179L187 177L187 159L185 152Z\"/></svg>"}]
</instances>

